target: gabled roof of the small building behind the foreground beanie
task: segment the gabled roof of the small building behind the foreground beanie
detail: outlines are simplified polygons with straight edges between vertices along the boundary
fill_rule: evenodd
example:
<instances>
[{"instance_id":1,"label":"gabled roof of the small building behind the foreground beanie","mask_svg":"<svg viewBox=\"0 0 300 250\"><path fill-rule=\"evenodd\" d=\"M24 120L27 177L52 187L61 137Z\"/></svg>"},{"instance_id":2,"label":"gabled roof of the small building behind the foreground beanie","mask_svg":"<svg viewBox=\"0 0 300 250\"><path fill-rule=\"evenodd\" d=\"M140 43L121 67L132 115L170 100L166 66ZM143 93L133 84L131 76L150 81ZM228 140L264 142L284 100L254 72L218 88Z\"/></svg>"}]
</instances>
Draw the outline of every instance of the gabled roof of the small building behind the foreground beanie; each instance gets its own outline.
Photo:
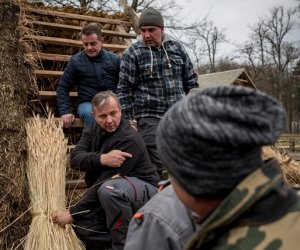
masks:
<instances>
[{"instance_id":1,"label":"gabled roof of the small building behind the foreground beanie","mask_svg":"<svg viewBox=\"0 0 300 250\"><path fill-rule=\"evenodd\" d=\"M199 89L224 85L240 85L256 88L245 69L234 69L212 74L198 75Z\"/></svg>"}]
</instances>

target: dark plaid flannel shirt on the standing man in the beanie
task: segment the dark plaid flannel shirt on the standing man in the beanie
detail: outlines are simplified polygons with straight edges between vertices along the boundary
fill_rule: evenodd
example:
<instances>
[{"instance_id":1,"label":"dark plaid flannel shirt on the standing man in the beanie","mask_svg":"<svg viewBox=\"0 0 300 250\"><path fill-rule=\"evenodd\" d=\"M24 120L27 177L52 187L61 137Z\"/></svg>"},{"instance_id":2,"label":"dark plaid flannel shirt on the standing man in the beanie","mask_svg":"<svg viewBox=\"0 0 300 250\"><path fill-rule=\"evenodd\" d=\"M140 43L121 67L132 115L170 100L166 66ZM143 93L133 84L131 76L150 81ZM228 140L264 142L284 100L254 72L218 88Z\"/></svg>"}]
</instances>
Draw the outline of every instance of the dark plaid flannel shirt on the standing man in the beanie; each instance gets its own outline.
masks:
<instances>
[{"instance_id":1,"label":"dark plaid flannel shirt on the standing man in the beanie","mask_svg":"<svg viewBox=\"0 0 300 250\"><path fill-rule=\"evenodd\" d=\"M122 115L127 120L161 118L192 88L198 76L183 46L165 40L150 48L138 40L123 55L118 84Z\"/></svg>"}]
</instances>

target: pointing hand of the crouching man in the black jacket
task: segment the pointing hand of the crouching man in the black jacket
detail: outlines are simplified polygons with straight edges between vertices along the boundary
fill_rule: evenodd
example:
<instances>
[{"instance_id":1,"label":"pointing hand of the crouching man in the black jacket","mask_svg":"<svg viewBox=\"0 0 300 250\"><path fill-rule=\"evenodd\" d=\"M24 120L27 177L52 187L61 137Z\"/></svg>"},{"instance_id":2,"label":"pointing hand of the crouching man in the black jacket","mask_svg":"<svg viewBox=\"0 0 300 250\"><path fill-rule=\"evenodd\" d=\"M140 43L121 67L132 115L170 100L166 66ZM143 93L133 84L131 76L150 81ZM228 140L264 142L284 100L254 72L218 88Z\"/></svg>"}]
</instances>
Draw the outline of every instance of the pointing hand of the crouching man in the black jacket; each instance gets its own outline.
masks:
<instances>
[{"instance_id":1,"label":"pointing hand of the crouching man in the black jacket","mask_svg":"<svg viewBox=\"0 0 300 250\"><path fill-rule=\"evenodd\" d=\"M100 156L100 162L103 166L108 166L112 168L120 167L126 160L126 157L131 158L132 155L121 150L112 150L107 154L102 154Z\"/></svg>"}]
</instances>

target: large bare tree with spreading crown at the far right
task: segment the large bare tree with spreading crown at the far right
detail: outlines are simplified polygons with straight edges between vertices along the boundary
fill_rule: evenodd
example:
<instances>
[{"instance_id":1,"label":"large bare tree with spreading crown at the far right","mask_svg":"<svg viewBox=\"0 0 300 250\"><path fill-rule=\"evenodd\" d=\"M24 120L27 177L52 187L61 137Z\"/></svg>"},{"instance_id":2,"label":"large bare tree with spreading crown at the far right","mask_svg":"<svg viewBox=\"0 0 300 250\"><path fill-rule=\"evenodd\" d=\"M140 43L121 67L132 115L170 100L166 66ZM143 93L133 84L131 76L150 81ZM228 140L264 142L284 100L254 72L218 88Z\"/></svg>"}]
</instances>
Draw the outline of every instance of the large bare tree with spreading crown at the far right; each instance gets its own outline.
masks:
<instances>
[{"instance_id":1,"label":"large bare tree with spreading crown at the far right","mask_svg":"<svg viewBox=\"0 0 300 250\"><path fill-rule=\"evenodd\" d=\"M258 76L265 76L267 69L276 69L276 79L274 81L275 96L283 100L285 91L284 74L288 65L291 65L299 58L299 49L287 41L287 35L292 31L295 23L293 16L296 9L284 10L283 6L270 9L270 16L266 16L250 27L251 36L240 50ZM274 72L273 72L274 73Z\"/></svg>"}]
</instances>

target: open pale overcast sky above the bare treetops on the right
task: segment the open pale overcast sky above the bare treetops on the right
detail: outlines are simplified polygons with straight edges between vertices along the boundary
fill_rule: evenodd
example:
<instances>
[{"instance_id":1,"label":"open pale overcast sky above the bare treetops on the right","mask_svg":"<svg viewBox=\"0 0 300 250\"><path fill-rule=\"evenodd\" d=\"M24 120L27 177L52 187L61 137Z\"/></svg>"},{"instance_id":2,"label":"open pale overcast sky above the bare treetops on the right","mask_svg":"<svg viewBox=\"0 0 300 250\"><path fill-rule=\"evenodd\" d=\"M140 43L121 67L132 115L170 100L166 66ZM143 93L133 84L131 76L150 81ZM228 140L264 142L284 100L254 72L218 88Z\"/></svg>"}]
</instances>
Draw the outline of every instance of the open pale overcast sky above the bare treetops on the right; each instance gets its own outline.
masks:
<instances>
[{"instance_id":1,"label":"open pale overcast sky above the bare treetops on the right","mask_svg":"<svg viewBox=\"0 0 300 250\"><path fill-rule=\"evenodd\" d=\"M224 29L227 39L238 43L248 40L249 24L256 24L261 16L270 16L270 8L283 5L288 9L297 6L296 0L177 0L177 2L184 7L183 16L186 16L187 20L200 21L208 15L215 26ZM300 41L299 26L297 32L293 33L292 39ZM233 46L231 47L233 49Z\"/></svg>"}]
</instances>

